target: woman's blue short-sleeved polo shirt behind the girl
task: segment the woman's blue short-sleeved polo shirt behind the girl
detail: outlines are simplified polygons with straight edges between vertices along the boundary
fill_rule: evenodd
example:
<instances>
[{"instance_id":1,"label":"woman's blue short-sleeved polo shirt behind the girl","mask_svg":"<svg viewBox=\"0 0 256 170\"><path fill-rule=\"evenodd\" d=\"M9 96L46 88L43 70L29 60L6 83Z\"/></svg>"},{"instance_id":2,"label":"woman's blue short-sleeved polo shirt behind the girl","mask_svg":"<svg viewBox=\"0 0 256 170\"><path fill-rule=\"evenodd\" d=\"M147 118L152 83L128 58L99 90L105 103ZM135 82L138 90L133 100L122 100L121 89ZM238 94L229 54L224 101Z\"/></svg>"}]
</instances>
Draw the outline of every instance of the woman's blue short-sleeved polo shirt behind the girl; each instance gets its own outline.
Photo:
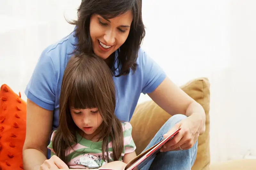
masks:
<instances>
[{"instance_id":1,"label":"woman's blue short-sleeved polo shirt behind the girl","mask_svg":"<svg viewBox=\"0 0 256 170\"><path fill-rule=\"evenodd\" d=\"M70 53L75 49L75 31L44 49L26 87L27 98L38 106L53 111L53 127L59 123L59 99L63 72ZM115 63L116 64L116 63ZM113 77L116 93L115 114L119 120L129 122L141 93L153 92L164 80L164 71L142 50L139 50L137 70L128 75ZM118 69L116 72L118 73Z\"/></svg>"}]
</instances>

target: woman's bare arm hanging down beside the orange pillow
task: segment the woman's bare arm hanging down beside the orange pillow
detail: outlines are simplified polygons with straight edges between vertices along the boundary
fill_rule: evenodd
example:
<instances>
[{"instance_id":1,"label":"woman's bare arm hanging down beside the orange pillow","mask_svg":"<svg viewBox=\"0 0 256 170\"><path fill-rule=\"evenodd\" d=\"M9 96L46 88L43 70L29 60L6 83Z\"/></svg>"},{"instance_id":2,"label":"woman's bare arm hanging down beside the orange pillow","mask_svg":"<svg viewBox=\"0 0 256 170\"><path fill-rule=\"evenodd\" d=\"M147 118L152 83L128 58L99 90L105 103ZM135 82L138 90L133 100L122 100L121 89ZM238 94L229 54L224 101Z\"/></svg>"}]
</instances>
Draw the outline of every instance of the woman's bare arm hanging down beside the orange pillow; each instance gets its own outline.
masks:
<instances>
[{"instance_id":1,"label":"woman's bare arm hanging down beside the orange pillow","mask_svg":"<svg viewBox=\"0 0 256 170\"><path fill-rule=\"evenodd\" d=\"M29 99L27 100L26 139L22 155L24 170L39 170L46 161L52 119L52 111L39 107ZM51 161L47 160L45 164L52 164L51 162L57 166L67 167L58 157L53 157Z\"/></svg>"}]
</instances>

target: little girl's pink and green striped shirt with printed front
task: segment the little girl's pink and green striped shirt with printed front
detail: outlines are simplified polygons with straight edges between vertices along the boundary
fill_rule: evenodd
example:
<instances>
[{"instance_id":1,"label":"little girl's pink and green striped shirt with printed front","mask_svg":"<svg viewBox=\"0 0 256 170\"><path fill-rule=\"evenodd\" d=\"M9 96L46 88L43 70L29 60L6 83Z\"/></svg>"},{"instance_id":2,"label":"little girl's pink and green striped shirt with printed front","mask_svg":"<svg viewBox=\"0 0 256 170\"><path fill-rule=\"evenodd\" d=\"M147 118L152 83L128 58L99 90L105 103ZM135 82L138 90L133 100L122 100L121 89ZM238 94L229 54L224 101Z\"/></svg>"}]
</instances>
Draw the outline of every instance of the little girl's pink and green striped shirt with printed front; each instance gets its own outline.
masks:
<instances>
[{"instance_id":1,"label":"little girl's pink and green striped shirt with printed front","mask_svg":"<svg viewBox=\"0 0 256 170\"><path fill-rule=\"evenodd\" d=\"M124 122L122 123L122 127L124 132L124 149L119 158L120 161L122 161L124 154L131 153L136 149L132 139L132 125L129 122ZM48 149L51 150L51 156L55 155L55 152L52 149L52 139L54 137L54 132L52 133L51 142L48 145ZM78 133L76 133L76 138L77 144L72 145L73 149L68 148L66 151L69 168L92 169L99 168L106 164L106 162L103 161L102 156L102 141L92 142L81 137ZM107 153L104 155L105 158L107 158L106 154ZM108 143L108 157L109 162L113 161L113 148L112 142L110 140Z\"/></svg>"}]
</instances>

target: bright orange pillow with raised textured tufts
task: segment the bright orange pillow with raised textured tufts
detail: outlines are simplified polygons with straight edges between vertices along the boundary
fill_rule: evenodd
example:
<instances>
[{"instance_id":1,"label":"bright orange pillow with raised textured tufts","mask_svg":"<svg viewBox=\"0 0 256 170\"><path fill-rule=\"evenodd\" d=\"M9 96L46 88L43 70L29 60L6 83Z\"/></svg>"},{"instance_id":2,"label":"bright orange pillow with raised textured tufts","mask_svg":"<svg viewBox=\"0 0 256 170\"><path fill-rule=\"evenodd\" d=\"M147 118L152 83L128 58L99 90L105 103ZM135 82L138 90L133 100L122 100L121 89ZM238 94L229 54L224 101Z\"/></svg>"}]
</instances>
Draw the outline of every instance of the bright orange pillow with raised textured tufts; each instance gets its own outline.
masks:
<instances>
[{"instance_id":1,"label":"bright orange pillow with raised textured tufts","mask_svg":"<svg viewBox=\"0 0 256 170\"><path fill-rule=\"evenodd\" d=\"M0 91L0 170L22 170L27 103L7 85Z\"/></svg>"}]
</instances>

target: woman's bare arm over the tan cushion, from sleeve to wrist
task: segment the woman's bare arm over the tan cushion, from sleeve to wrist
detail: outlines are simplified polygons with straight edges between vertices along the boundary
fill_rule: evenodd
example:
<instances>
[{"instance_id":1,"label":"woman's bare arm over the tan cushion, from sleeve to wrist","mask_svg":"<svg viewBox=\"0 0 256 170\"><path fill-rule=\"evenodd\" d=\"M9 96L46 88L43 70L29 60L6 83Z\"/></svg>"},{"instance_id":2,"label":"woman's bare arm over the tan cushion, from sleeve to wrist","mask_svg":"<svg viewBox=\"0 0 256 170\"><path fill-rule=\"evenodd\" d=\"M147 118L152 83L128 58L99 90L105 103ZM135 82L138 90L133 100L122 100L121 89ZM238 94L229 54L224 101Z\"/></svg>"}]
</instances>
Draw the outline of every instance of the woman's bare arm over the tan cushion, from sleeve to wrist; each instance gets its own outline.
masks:
<instances>
[{"instance_id":1,"label":"woman's bare arm over the tan cushion, from sleeve to wrist","mask_svg":"<svg viewBox=\"0 0 256 170\"><path fill-rule=\"evenodd\" d=\"M168 77L148 96L170 115L183 114L200 122L200 134L205 131L204 108L175 85Z\"/></svg>"}]
</instances>

